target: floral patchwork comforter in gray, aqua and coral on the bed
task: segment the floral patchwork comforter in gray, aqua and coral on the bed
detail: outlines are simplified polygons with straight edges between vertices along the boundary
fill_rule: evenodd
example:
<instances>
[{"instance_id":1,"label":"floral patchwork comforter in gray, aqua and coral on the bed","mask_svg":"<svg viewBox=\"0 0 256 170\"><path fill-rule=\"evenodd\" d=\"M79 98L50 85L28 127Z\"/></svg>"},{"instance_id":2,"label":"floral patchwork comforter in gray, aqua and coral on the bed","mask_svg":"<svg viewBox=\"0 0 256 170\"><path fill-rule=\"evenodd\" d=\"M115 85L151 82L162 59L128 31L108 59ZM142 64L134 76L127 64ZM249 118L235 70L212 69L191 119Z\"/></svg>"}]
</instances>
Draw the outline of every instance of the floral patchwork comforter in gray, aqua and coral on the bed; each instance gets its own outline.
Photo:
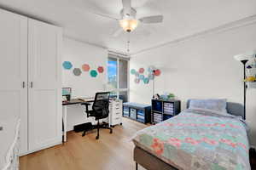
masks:
<instances>
[{"instance_id":1,"label":"floral patchwork comforter in gray, aqua and coral on the bed","mask_svg":"<svg viewBox=\"0 0 256 170\"><path fill-rule=\"evenodd\" d=\"M246 124L229 114L185 110L132 140L178 169L251 169Z\"/></svg>"}]
</instances>

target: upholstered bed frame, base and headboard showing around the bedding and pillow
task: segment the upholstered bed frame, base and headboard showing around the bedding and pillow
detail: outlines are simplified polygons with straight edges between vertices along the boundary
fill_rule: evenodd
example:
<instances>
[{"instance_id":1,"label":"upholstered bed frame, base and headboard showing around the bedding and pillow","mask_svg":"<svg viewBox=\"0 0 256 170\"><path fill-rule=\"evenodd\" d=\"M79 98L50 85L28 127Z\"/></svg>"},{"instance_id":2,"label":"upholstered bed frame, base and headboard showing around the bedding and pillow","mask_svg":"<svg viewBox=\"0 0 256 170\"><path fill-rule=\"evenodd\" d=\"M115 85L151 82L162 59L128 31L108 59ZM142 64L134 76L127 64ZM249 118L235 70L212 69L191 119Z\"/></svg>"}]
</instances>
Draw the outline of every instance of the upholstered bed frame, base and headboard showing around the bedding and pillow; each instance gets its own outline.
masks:
<instances>
[{"instance_id":1,"label":"upholstered bed frame, base and headboard showing around the bedding and pillow","mask_svg":"<svg viewBox=\"0 0 256 170\"><path fill-rule=\"evenodd\" d=\"M189 101L187 107L189 108ZM243 105L233 102L227 103L227 111L231 115L245 117ZM136 170L138 170L138 164L147 170L176 170L176 167L167 164L165 161L161 161L158 157L148 153L148 151L141 149L138 146L134 148L134 161L136 162Z\"/></svg>"}]
</instances>

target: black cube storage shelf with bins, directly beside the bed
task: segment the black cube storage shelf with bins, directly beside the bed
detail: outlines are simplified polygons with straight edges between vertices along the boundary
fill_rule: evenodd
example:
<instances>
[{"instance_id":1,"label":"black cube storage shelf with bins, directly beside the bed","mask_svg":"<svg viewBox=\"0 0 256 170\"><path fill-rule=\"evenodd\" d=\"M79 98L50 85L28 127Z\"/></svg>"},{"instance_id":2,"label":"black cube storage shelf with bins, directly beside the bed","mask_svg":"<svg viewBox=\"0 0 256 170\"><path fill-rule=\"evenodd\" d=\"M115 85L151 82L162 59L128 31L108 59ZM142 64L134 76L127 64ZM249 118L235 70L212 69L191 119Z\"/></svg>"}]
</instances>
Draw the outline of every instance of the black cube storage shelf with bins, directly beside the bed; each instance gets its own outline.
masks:
<instances>
[{"instance_id":1,"label":"black cube storage shelf with bins, directly beside the bed","mask_svg":"<svg viewBox=\"0 0 256 170\"><path fill-rule=\"evenodd\" d=\"M152 99L151 123L166 121L180 113L180 100Z\"/></svg>"}]
</instances>

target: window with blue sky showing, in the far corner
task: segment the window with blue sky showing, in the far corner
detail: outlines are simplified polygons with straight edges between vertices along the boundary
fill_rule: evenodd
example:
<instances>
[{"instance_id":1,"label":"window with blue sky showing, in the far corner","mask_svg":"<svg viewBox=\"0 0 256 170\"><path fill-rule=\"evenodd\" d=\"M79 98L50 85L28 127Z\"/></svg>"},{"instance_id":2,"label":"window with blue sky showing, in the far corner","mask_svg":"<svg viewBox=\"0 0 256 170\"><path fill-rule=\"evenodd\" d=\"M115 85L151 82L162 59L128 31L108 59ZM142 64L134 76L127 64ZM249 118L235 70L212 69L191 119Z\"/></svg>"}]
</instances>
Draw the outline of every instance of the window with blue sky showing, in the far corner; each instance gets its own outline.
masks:
<instances>
[{"instance_id":1,"label":"window with blue sky showing, in the far corner","mask_svg":"<svg viewBox=\"0 0 256 170\"><path fill-rule=\"evenodd\" d=\"M119 55L108 55L108 90L111 96L128 101L128 65L129 59Z\"/></svg>"}]
</instances>

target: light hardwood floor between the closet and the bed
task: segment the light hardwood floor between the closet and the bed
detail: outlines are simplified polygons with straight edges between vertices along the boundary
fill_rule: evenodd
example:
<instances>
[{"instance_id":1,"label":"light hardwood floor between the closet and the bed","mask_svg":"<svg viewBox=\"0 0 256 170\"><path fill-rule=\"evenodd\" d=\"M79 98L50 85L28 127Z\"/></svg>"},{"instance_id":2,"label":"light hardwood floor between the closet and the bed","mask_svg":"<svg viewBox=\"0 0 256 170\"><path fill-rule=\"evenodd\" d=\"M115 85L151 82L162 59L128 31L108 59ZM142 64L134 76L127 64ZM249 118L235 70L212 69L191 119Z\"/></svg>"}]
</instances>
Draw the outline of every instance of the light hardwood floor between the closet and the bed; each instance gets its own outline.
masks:
<instances>
[{"instance_id":1,"label":"light hardwood floor between the closet and the bed","mask_svg":"<svg viewBox=\"0 0 256 170\"><path fill-rule=\"evenodd\" d=\"M129 140L143 123L124 118L123 126L86 134L70 132L67 143L20 157L20 170L133 170L134 144ZM139 168L142 170L143 168Z\"/></svg>"}]
</instances>

